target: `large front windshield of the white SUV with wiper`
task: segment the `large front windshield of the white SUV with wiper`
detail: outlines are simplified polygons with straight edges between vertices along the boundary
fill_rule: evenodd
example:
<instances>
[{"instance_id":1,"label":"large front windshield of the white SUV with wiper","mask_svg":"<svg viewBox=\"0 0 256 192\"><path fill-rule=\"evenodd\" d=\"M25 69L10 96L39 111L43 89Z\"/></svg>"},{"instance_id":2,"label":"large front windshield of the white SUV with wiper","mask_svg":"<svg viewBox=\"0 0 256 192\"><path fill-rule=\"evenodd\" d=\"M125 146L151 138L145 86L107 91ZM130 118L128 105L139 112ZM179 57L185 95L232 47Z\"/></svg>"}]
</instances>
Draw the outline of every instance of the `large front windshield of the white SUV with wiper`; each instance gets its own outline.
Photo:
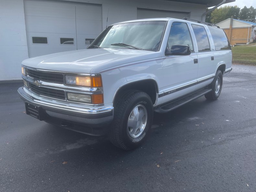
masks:
<instances>
[{"instance_id":1,"label":"large front windshield of the white SUV with wiper","mask_svg":"<svg viewBox=\"0 0 256 192\"><path fill-rule=\"evenodd\" d=\"M124 48L158 51L166 21L144 21L109 26L87 48Z\"/></svg>"}]
</instances>

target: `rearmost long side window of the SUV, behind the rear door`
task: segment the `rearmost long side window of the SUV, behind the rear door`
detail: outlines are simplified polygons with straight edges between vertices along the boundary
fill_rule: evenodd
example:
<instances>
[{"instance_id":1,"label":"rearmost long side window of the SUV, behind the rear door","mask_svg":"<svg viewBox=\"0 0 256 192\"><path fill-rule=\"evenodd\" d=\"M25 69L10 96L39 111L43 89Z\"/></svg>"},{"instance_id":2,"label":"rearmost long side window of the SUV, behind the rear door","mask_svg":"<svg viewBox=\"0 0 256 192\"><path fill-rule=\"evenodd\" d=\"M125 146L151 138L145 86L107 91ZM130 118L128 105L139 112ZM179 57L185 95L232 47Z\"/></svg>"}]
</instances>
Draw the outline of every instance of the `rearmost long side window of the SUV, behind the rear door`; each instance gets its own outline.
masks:
<instances>
[{"instance_id":1,"label":"rearmost long side window of the SUV, behind the rear door","mask_svg":"<svg viewBox=\"0 0 256 192\"><path fill-rule=\"evenodd\" d=\"M212 34L215 50L229 50L231 49L225 32L220 28L209 27Z\"/></svg>"}]
</instances>

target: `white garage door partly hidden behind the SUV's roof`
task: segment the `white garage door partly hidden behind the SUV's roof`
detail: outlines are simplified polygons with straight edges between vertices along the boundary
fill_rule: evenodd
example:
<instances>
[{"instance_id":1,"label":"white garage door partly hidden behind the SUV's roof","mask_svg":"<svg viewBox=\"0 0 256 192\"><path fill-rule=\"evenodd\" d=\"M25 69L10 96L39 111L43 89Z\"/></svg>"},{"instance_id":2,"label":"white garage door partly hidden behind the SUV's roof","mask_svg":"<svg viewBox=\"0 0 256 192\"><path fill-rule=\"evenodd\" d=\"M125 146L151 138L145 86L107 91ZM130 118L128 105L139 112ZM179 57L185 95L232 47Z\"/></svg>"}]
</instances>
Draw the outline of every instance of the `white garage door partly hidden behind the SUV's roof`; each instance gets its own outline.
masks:
<instances>
[{"instance_id":1,"label":"white garage door partly hidden behind the SUV's roof","mask_svg":"<svg viewBox=\"0 0 256 192\"><path fill-rule=\"evenodd\" d=\"M190 17L188 12L177 12L177 11L165 11L165 10L155 10L155 9L137 9L137 18L158 18L158 17L173 17L177 19L182 19L184 17Z\"/></svg>"}]
</instances>

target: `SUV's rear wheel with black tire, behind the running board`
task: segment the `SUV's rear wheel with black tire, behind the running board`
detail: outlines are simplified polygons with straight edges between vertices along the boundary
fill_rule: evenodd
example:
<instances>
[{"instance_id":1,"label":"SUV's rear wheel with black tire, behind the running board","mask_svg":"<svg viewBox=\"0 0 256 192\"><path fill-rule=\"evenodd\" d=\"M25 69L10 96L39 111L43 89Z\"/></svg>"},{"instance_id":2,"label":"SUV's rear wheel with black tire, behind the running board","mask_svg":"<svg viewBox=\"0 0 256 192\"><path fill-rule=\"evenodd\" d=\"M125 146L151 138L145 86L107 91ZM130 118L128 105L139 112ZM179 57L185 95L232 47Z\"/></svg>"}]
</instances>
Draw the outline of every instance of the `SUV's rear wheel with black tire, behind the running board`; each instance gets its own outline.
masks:
<instances>
[{"instance_id":1,"label":"SUV's rear wheel with black tire, behind the running board","mask_svg":"<svg viewBox=\"0 0 256 192\"><path fill-rule=\"evenodd\" d=\"M219 82L219 84L216 83L217 81ZM205 98L211 101L216 100L220 96L220 92L222 89L222 82L223 82L222 72L218 70L213 79L213 82L208 86L209 88L212 89L212 91L205 94L204 95ZM219 87L217 85L219 85Z\"/></svg>"}]
</instances>

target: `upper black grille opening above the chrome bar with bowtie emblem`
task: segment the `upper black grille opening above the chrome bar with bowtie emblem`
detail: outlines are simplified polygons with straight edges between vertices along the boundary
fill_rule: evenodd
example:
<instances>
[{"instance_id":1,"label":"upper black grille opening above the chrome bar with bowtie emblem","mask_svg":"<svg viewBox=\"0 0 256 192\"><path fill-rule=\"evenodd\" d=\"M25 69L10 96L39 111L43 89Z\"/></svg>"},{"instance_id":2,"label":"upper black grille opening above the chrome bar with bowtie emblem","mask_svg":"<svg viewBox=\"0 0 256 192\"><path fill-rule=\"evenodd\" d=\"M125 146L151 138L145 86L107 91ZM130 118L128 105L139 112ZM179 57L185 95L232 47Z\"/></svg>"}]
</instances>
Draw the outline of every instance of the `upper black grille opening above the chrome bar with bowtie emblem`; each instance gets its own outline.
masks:
<instances>
[{"instance_id":1,"label":"upper black grille opening above the chrome bar with bowtie emblem","mask_svg":"<svg viewBox=\"0 0 256 192\"><path fill-rule=\"evenodd\" d=\"M29 77L35 78L36 80L47 81L51 83L63 84L64 82L64 76L61 73L52 73L28 69L28 75Z\"/></svg>"}]
</instances>

